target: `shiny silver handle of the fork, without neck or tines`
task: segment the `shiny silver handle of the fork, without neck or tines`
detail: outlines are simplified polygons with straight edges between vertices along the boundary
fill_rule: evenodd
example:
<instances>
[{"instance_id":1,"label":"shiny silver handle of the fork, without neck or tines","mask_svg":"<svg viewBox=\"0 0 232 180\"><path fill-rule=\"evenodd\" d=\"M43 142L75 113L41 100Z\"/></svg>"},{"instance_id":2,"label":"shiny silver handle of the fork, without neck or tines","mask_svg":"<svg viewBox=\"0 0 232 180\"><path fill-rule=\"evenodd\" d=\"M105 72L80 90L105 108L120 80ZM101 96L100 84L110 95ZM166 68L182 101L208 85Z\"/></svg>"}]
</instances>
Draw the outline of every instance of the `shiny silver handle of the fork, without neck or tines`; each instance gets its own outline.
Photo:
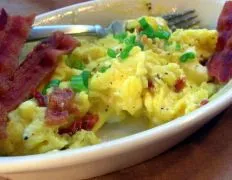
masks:
<instances>
[{"instance_id":1,"label":"shiny silver handle of the fork, without neck or tines","mask_svg":"<svg viewBox=\"0 0 232 180\"><path fill-rule=\"evenodd\" d=\"M35 41L47 38L55 31L62 31L65 34L94 35L100 37L106 35L106 30L100 25L48 25L33 26L27 40Z\"/></svg>"}]
</instances>

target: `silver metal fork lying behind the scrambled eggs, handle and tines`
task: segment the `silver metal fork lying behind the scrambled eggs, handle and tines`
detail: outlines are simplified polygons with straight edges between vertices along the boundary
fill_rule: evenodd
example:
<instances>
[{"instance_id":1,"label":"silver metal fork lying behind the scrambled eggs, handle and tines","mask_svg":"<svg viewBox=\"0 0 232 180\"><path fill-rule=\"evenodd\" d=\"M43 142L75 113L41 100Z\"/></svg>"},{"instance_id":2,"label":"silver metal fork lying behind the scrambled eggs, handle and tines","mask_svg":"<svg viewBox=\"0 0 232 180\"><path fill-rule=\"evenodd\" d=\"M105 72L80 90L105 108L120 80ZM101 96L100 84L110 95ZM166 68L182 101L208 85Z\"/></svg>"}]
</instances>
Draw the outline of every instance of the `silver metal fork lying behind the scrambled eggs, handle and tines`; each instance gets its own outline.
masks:
<instances>
[{"instance_id":1,"label":"silver metal fork lying behind the scrambled eggs, handle and tines","mask_svg":"<svg viewBox=\"0 0 232 180\"><path fill-rule=\"evenodd\" d=\"M187 29L194 27L200 23L197 19L195 10L187 10L181 13L165 14L163 17L169 28L172 31L176 29ZM28 37L28 41L35 41L47 38L55 31L62 31L65 34L75 35L93 35L104 37L109 33L119 34L126 30L126 20L113 21L108 27L104 28L101 25L46 25L46 26L33 26Z\"/></svg>"}]
</instances>

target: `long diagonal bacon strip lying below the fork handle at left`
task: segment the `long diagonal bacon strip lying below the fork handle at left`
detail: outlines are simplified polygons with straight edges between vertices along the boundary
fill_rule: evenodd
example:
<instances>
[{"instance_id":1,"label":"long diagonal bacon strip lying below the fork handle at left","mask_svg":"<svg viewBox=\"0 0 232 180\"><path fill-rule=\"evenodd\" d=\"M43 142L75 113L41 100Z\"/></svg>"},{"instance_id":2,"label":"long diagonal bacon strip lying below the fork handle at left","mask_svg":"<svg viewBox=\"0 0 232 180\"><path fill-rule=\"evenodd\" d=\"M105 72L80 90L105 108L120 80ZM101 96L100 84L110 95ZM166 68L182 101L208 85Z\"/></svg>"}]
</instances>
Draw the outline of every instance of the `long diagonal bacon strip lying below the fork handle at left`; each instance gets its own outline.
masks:
<instances>
[{"instance_id":1,"label":"long diagonal bacon strip lying below the fork handle at left","mask_svg":"<svg viewBox=\"0 0 232 180\"><path fill-rule=\"evenodd\" d=\"M7 112L23 102L40 82L52 73L60 55L71 52L79 42L70 35L56 32L49 39L41 42L26 57L26 60L14 73L9 90L0 94L0 138L4 134Z\"/></svg>"}]
</instances>

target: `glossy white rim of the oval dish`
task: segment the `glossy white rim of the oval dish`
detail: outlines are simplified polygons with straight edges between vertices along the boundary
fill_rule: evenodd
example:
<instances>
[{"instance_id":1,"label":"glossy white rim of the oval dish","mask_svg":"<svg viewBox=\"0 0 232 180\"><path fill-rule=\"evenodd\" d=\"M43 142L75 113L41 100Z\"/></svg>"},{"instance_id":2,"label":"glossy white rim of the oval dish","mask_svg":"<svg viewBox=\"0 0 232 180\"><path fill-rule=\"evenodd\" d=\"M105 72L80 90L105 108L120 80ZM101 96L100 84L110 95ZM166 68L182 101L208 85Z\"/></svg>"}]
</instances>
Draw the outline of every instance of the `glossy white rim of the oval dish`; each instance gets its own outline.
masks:
<instances>
[{"instance_id":1,"label":"glossy white rim of the oval dish","mask_svg":"<svg viewBox=\"0 0 232 180\"><path fill-rule=\"evenodd\" d=\"M76 7L87 6L92 3L97 3L98 1L92 0L88 2L81 2L46 13L42 13L36 16L36 21L39 21L39 19L47 17L56 12L68 11ZM226 86L229 86L230 84L232 87L232 80L229 83L227 83ZM108 142L103 142L96 145L83 147L80 149L69 149L59 152L26 156L0 157L0 173L16 173L60 168L64 166L70 166L73 164L87 163L105 157L110 157L116 154L125 153L132 149L136 149L146 144L150 144L152 141L154 141L154 137L156 139L158 139L159 136L164 137L166 131L168 131L166 135L169 136L170 133L175 134L181 132L182 130L193 126L193 124L201 123L201 121L204 121L204 123L206 123L208 120L203 119L208 118L207 112L212 111L213 115L210 116L214 116L215 114L221 112L226 107L228 107L231 103L232 91L227 90L226 93L220 95L220 97L215 98L205 106L198 108L185 116L176 118L165 124L159 125L157 127L142 132L138 132L133 135L111 140ZM104 151L104 153L102 153L102 151ZM62 161L62 164L56 163L60 161Z\"/></svg>"}]
</instances>

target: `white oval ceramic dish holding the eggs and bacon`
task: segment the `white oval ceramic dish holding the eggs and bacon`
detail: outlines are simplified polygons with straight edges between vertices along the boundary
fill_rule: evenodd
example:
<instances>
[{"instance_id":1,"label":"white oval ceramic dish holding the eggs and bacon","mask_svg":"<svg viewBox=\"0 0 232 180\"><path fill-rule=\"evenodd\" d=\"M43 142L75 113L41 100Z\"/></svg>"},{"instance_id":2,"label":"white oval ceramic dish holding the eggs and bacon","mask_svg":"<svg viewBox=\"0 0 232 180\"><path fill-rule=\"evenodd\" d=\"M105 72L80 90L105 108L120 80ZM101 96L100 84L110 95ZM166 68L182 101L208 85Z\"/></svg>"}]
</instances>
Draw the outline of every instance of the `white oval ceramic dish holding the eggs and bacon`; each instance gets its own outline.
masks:
<instances>
[{"instance_id":1,"label":"white oval ceramic dish holding the eggs and bacon","mask_svg":"<svg viewBox=\"0 0 232 180\"><path fill-rule=\"evenodd\" d=\"M148 14L144 0L98 0L37 16L36 25L103 24ZM203 26L215 27L224 0L151 0L151 14L194 8ZM207 105L176 120L131 136L82 149L19 157L0 157L2 177L83 179L103 175L152 158L177 144L232 103L232 81Z\"/></svg>"}]
</instances>

